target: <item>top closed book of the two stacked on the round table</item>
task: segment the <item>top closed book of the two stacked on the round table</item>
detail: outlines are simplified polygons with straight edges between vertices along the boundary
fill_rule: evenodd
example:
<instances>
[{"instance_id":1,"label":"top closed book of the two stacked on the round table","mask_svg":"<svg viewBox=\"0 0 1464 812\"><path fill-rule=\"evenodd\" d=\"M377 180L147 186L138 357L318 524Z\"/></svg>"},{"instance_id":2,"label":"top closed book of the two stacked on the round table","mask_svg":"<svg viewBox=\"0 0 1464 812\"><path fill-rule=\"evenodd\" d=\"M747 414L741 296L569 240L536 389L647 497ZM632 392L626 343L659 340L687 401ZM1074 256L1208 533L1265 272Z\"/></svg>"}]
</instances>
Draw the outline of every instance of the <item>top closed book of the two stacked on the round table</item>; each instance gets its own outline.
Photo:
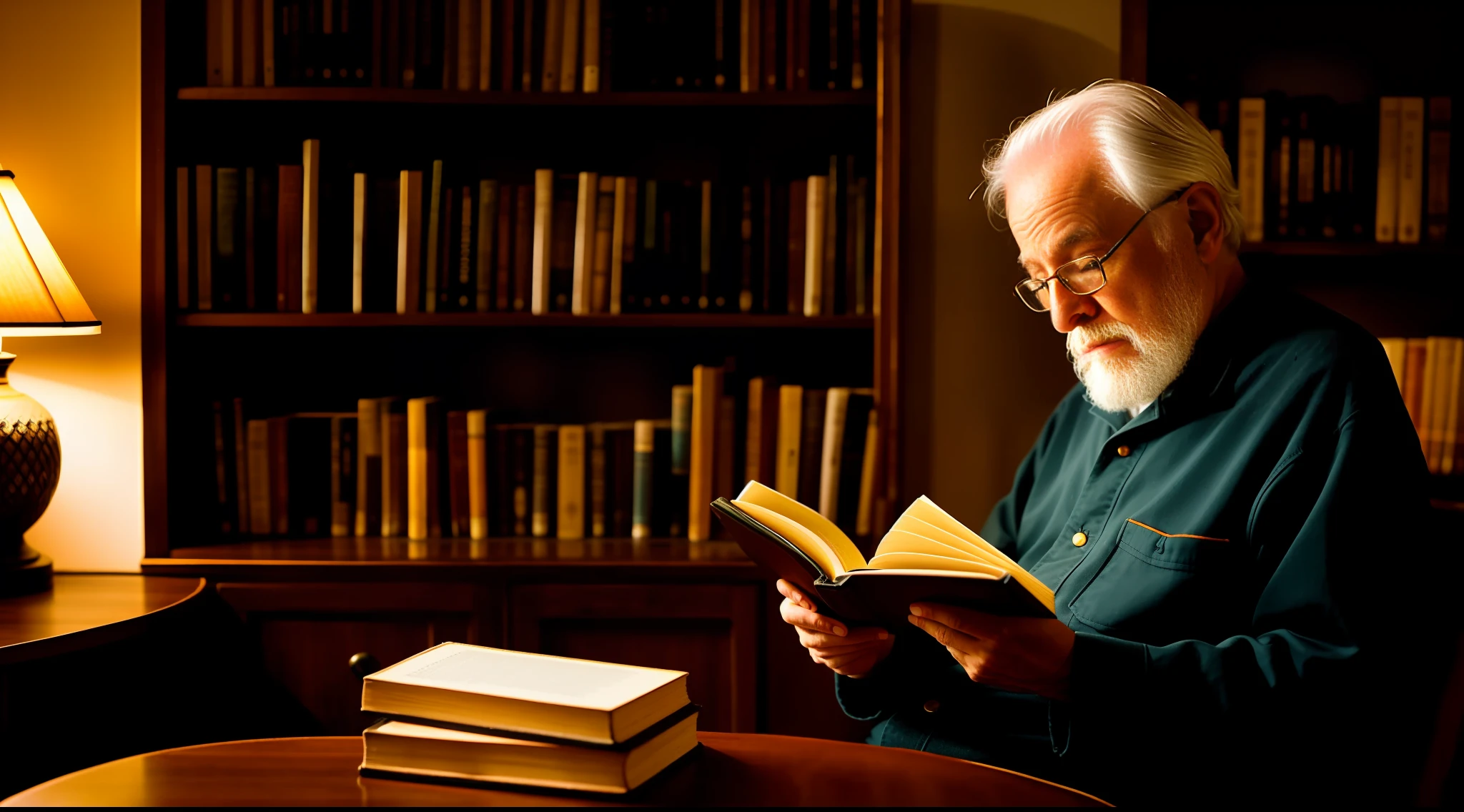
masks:
<instances>
[{"instance_id":1,"label":"top closed book of the two stacked on the round table","mask_svg":"<svg viewBox=\"0 0 1464 812\"><path fill-rule=\"evenodd\" d=\"M444 642L362 680L362 710L616 745L688 704L687 673Z\"/></svg>"}]
</instances>

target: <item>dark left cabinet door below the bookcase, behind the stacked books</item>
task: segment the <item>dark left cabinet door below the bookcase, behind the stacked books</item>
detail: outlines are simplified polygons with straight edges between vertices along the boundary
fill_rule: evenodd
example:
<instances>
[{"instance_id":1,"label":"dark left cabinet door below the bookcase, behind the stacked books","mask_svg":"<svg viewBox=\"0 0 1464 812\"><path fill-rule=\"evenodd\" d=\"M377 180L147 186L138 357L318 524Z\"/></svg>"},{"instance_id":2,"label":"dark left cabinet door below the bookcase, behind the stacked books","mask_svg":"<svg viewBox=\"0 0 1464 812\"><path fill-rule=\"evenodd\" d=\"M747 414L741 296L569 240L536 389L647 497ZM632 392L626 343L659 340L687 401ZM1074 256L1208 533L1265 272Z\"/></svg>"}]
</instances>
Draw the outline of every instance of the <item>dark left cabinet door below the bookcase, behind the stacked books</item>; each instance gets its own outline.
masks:
<instances>
[{"instance_id":1,"label":"dark left cabinet door below the bookcase, behind the stacked books","mask_svg":"<svg viewBox=\"0 0 1464 812\"><path fill-rule=\"evenodd\" d=\"M218 593L243 616L269 676L332 736L359 734L375 718L360 711L353 655L385 667L439 642L495 642L479 634L477 590L466 584L220 584Z\"/></svg>"}]
</instances>

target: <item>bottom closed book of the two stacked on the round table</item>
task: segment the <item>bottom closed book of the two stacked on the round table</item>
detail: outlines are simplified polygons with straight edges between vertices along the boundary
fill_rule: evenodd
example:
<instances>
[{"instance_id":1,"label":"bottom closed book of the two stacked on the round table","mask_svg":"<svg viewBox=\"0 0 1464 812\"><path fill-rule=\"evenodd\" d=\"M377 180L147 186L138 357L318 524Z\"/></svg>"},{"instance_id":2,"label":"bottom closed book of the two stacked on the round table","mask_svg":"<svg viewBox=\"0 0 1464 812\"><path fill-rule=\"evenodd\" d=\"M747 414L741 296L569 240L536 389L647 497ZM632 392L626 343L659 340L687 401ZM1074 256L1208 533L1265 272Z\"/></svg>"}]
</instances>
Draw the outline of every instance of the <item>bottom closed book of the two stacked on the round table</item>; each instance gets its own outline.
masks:
<instances>
[{"instance_id":1,"label":"bottom closed book of the two stacked on the round table","mask_svg":"<svg viewBox=\"0 0 1464 812\"><path fill-rule=\"evenodd\" d=\"M362 774L625 793L697 746L688 705L624 745L568 742L381 720L362 736Z\"/></svg>"}]
</instances>

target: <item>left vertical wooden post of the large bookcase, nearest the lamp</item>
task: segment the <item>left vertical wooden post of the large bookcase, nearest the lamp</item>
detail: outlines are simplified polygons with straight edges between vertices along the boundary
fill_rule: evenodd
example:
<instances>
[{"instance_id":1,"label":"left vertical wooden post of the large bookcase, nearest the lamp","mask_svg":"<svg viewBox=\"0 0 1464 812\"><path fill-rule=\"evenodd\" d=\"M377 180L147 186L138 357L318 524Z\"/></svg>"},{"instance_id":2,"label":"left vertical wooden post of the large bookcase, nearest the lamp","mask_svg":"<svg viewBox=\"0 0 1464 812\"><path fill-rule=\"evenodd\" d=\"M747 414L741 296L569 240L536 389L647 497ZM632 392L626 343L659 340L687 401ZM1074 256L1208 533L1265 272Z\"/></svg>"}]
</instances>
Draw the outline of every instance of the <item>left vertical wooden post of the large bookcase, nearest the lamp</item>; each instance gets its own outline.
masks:
<instances>
[{"instance_id":1,"label":"left vertical wooden post of the large bookcase, nearest the lamp","mask_svg":"<svg viewBox=\"0 0 1464 812\"><path fill-rule=\"evenodd\" d=\"M164 0L142 1L142 533L148 556L168 555L167 218Z\"/></svg>"}]
</instances>

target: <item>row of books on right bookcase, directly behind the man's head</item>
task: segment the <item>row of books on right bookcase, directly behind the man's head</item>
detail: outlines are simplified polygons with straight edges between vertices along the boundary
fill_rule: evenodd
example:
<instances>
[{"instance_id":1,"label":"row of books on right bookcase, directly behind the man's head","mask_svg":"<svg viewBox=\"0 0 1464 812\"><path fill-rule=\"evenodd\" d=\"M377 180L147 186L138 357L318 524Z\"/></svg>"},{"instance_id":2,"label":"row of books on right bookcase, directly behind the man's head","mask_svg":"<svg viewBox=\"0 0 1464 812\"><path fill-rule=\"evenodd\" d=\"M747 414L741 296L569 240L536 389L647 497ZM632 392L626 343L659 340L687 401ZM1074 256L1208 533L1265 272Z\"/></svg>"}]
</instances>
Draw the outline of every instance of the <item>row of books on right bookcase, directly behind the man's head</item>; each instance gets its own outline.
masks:
<instances>
[{"instance_id":1,"label":"row of books on right bookcase, directly behind the man's head","mask_svg":"<svg viewBox=\"0 0 1464 812\"><path fill-rule=\"evenodd\" d=\"M1451 101L1186 101L1230 154L1247 241L1445 241Z\"/></svg>"}]
</instances>

